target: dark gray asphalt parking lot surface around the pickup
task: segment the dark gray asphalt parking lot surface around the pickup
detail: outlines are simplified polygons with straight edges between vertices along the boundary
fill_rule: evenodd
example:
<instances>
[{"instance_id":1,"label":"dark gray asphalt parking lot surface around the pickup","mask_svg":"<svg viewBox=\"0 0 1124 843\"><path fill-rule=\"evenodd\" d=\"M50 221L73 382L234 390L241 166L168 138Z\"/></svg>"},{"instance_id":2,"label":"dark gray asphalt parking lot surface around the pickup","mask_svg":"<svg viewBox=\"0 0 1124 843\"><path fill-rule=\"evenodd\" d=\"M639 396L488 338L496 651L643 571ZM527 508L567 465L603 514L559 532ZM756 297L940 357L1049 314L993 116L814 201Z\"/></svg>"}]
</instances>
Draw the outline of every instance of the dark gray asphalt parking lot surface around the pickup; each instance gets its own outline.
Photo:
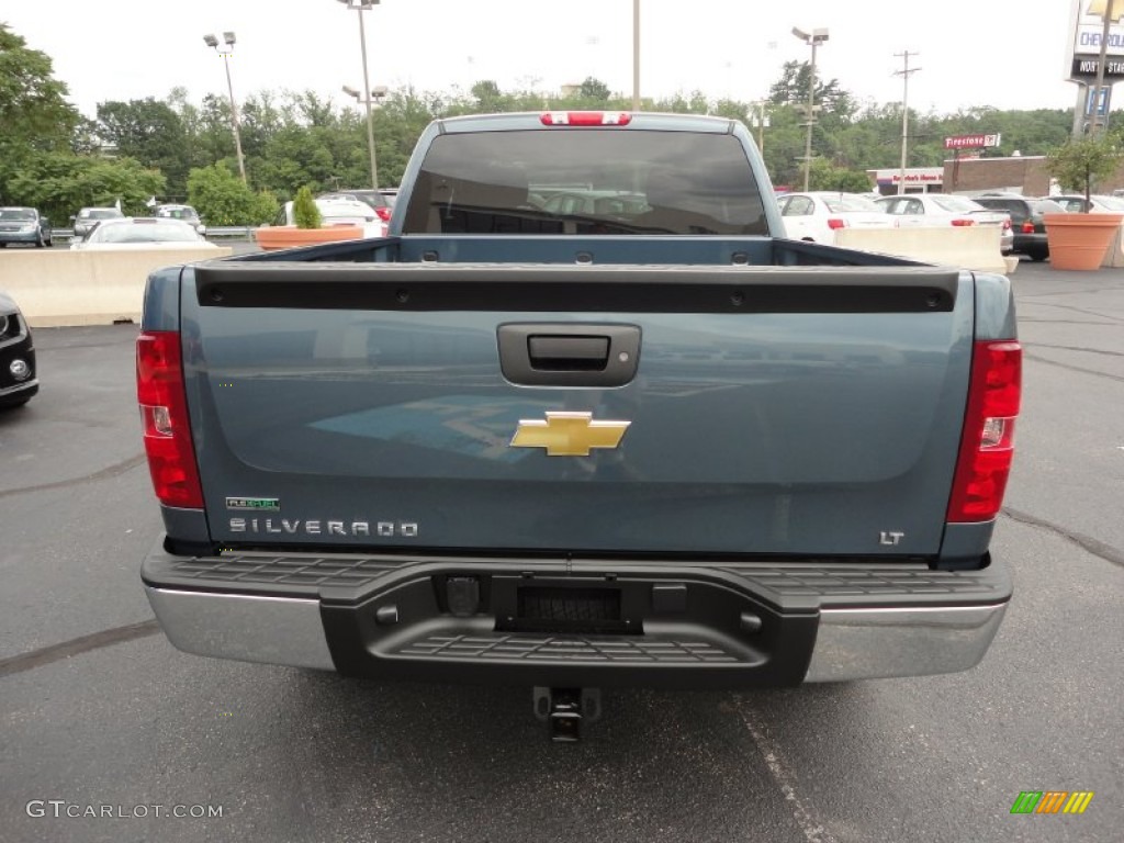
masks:
<instances>
[{"instance_id":1,"label":"dark gray asphalt parking lot surface around the pickup","mask_svg":"<svg viewBox=\"0 0 1124 843\"><path fill-rule=\"evenodd\" d=\"M138 577L161 524L136 327L37 332L40 395L0 414L0 841L1121 840L1124 270L1013 280L1024 406L992 550L1015 599L984 663L606 692L568 746L529 689L172 649ZM1095 797L1010 814L1025 790Z\"/></svg>"}]
</instances>

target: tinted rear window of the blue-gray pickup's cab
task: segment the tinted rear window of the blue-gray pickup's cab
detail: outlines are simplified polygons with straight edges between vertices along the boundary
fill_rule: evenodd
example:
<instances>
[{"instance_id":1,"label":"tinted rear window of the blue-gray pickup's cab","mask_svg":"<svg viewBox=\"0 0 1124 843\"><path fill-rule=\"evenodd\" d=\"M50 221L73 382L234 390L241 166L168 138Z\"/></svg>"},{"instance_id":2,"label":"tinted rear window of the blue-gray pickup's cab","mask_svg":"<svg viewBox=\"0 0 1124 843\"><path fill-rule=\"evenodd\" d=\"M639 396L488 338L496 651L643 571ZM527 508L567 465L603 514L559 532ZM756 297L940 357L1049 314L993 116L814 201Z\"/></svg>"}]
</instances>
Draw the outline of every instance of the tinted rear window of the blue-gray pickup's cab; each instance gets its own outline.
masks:
<instances>
[{"instance_id":1,"label":"tinted rear window of the blue-gray pickup's cab","mask_svg":"<svg viewBox=\"0 0 1124 843\"><path fill-rule=\"evenodd\" d=\"M405 234L767 234L737 138L581 128L436 137Z\"/></svg>"}]
</instances>

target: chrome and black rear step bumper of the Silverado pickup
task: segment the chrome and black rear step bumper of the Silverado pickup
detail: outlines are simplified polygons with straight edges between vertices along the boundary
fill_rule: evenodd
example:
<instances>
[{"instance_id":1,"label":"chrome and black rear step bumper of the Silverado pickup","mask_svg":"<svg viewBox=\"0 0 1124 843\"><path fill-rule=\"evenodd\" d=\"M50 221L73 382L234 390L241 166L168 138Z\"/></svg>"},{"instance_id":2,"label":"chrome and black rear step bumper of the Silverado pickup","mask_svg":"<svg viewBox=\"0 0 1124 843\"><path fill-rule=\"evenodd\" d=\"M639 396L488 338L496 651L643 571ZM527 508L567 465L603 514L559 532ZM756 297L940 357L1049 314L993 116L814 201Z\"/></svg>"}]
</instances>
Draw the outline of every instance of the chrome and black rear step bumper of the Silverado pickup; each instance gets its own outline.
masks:
<instances>
[{"instance_id":1,"label":"chrome and black rear step bumper of the Silverado pickup","mask_svg":"<svg viewBox=\"0 0 1124 843\"><path fill-rule=\"evenodd\" d=\"M198 655L439 681L673 688L968 670L987 652L1010 596L1009 578L996 564L963 572L872 564L864 572L853 565L617 563L608 582L641 606L643 619L632 629L643 632L611 635L511 627L504 623L511 620L502 617L508 610L496 608L502 588L526 582L605 587L591 573L604 577L605 568L593 563L584 575L573 563L572 579L547 571L526 580L526 564L368 559L352 570L369 570L370 579L350 590L246 583L255 577L279 582L270 565L300 564L299 575L308 578L317 563L335 570L341 559L263 554L255 566L252 554L187 560L158 550L146 561L145 590L171 643ZM490 578L491 607L459 616L443 607L434 591L451 572ZM683 591L682 608L670 614L654 597L669 583Z\"/></svg>"}]
</instances>

